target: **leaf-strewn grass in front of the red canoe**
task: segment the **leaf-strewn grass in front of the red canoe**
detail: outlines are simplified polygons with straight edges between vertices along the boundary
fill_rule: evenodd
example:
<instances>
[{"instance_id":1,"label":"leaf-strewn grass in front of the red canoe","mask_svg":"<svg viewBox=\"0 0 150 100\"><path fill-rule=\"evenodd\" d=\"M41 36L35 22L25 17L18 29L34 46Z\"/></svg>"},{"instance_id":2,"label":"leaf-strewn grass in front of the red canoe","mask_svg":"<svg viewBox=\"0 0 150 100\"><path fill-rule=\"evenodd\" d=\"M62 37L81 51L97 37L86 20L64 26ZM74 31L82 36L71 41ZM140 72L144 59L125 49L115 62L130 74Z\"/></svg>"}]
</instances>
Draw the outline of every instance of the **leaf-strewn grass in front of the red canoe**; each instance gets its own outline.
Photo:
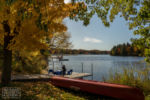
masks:
<instances>
[{"instance_id":1,"label":"leaf-strewn grass in front of the red canoe","mask_svg":"<svg viewBox=\"0 0 150 100\"><path fill-rule=\"evenodd\" d=\"M21 88L21 100L115 100L86 92L58 88L49 82L13 82L10 86Z\"/></svg>"}]
</instances>

